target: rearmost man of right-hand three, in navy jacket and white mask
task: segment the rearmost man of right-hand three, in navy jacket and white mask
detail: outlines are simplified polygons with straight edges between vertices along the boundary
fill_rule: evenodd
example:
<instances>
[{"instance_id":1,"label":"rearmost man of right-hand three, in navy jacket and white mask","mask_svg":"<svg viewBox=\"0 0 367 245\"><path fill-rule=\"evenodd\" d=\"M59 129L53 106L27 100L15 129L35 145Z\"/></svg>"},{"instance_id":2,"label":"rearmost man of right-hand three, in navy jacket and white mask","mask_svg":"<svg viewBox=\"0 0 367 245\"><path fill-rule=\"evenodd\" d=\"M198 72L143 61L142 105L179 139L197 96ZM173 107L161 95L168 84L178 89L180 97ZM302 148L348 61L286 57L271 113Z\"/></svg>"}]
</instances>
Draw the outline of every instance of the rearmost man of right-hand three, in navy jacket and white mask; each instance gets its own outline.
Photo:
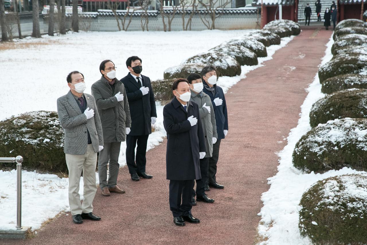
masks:
<instances>
[{"instance_id":1,"label":"rearmost man of right-hand three, in navy jacket and white mask","mask_svg":"<svg viewBox=\"0 0 367 245\"><path fill-rule=\"evenodd\" d=\"M208 172L208 185L206 185L206 191L209 190L209 186L216 189L223 189L223 185L217 183L215 175L217 174L217 162L219 158L219 146L221 140L227 136L228 133L228 115L227 104L224 97L223 89L217 86L217 72L214 65L207 65L201 70L201 77L203 78L204 89L203 92L209 95L212 105L214 107L215 123L217 124L218 139L213 144L213 153L209 159L209 172Z\"/></svg>"}]
</instances>

